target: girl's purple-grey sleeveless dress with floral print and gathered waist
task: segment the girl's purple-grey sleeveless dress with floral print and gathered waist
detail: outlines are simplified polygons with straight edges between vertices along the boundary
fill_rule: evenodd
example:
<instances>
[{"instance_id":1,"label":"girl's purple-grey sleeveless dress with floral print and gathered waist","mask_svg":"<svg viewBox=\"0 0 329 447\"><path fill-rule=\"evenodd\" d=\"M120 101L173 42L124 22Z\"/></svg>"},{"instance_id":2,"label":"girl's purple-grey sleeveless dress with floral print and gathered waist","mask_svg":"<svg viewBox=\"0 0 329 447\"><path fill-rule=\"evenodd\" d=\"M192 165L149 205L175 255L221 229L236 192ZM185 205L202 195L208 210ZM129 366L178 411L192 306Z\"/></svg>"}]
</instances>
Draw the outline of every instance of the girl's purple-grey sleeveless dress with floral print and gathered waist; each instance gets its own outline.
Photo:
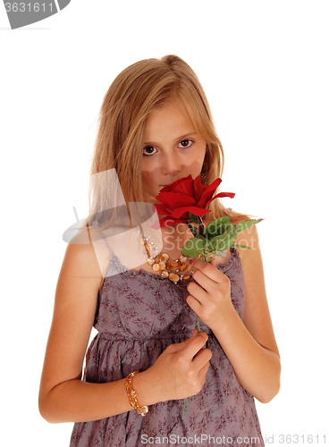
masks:
<instances>
[{"instance_id":1,"label":"girl's purple-grey sleeveless dress with floral print and gathered waist","mask_svg":"<svg viewBox=\"0 0 329 447\"><path fill-rule=\"evenodd\" d=\"M243 273L238 251L231 251L217 268L229 277L232 304L242 318ZM127 270L115 256L108 269L114 270L99 291L98 333L89 346L84 373L84 380L92 383L147 369L167 346L186 340L197 327L197 316L185 301L188 292L170 280ZM145 417L131 409L75 423L70 447L264 446L253 396L240 385L212 331L201 322L200 326L209 336L212 358L206 382L201 392L188 398L183 419L184 400L159 402L149 407Z\"/></svg>"}]
</instances>

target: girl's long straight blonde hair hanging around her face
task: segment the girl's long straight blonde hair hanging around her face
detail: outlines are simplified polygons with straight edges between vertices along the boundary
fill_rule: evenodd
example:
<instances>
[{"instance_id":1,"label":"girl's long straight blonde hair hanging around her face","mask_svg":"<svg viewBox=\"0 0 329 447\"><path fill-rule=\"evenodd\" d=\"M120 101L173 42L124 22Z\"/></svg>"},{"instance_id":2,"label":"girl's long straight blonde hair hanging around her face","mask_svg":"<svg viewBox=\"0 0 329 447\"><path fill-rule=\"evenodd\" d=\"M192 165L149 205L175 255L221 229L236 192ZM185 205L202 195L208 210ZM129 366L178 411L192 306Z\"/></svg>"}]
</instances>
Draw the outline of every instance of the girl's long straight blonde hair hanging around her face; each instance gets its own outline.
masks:
<instances>
[{"instance_id":1,"label":"girl's long straight blonde hair hanging around her face","mask_svg":"<svg viewBox=\"0 0 329 447\"><path fill-rule=\"evenodd\" d=\"M173 100L181 105L195 129L207 141L202 182L210 184L223 173L224 151L215 132L207 97L195 72L177 55L145 59L123 70L105 94L90 170L95 178L97 173L115 169L127 204L147 201L141 176L146 122L156 108ZM102 181L90 181L89 224L97 220L100 229L108 227L114 216L106 205L109 187ZM116 189L114 185L113 191ZM226 209L219 199L215 199L211 207L211 220L219 215L230 215L232 222L248 217Z\"/></svg>"}]
</instances>

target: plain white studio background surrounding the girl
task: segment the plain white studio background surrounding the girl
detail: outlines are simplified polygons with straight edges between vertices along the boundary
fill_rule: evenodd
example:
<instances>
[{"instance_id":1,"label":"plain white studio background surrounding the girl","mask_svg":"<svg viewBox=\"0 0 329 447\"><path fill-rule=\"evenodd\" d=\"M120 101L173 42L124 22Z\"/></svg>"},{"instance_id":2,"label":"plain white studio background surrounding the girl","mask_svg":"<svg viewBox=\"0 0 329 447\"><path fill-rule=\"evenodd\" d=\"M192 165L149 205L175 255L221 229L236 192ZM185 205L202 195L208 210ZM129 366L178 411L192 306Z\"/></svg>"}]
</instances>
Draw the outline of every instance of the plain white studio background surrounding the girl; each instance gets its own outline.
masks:
<instances>
[{"instance_id":1,"label":"plain white studio background surrounding the girl","mask_svg":"<svg viewBox=\"0 0 329 447\"><path fill-rule=\"evenodd\" d=\"M1 408L4 445L60 447L38 414L63 232L87 212L99 107L114 77L180 55L206 90L225 151L225 205L259 223L281 392L257 403L267 445L329 443L328 12L324 1L72 0L10 30L0 4ZM302 438L304 436L304 440ZM272 443L273 442L273 443Z\"/></svg>"}]
</instances>

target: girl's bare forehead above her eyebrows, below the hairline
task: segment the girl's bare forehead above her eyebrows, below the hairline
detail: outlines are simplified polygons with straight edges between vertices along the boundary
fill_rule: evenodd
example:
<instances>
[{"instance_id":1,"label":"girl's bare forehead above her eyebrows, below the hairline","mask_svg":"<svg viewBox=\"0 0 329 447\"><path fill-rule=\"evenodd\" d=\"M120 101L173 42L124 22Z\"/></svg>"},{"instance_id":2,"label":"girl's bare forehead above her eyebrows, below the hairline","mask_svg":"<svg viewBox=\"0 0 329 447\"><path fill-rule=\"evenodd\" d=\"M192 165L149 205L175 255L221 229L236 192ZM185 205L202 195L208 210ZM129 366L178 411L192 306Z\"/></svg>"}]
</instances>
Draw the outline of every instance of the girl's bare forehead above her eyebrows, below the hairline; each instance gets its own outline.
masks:
<instances>
[{"instance_id":1,"label":"girl's bare forehead above her eyebrows, below the hairline","mask_svg":"<svg viewBox=\"0 0 329 447\"><path fill-rule=\"evenodd\" d=\"M173 134L173 136L179 137L184 133L188 134L195 131L196 130L190 121L190 117L183 106L171 102L162 105L149 114L145 128L145 139L157 135L162 136L169 132Z\"/></svg>"}]
</instances>

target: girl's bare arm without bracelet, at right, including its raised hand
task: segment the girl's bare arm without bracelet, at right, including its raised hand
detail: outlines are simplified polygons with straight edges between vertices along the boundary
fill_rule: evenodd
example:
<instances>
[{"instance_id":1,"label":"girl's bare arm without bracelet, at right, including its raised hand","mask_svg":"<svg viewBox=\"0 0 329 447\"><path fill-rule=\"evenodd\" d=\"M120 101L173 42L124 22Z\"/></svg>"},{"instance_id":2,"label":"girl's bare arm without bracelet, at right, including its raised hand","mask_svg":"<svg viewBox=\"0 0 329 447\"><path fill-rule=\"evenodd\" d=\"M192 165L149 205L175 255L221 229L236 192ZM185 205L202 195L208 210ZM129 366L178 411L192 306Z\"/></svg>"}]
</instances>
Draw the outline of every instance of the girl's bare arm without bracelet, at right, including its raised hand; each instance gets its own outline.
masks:
<instances>
[{"instance_id":1,"label":"girl's bare arm without bracelet, at right, including its raised hand","mask_svg":"<svg viewBox=\"0 0 329 447\"><path fill-rule=\"evenodd\" d=\"M230 280L215 266L201 261L195 263L198 270L193 277L199 285L190 283L188 304L212 329L240 384L266 403L279 392L281 362L267 305L256 227L241 233L242 238L249 247L253 242L252 249L240 251L245 291L243 322L232 306Z\"/></svg>"}]
</instances>

